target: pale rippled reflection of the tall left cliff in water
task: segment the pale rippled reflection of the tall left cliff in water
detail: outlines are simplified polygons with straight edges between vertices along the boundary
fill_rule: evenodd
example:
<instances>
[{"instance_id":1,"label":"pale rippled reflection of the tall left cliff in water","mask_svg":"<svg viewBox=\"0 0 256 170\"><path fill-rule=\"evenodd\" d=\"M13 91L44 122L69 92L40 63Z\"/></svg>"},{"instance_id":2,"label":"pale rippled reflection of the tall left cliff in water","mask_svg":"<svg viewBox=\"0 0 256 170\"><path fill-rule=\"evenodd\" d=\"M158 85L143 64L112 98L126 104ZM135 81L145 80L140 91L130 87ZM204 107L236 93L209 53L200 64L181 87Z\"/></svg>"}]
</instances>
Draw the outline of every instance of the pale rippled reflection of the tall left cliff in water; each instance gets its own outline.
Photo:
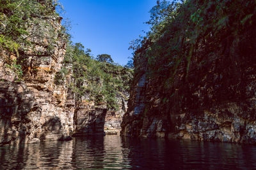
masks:
<instances>
[{"instance_id":1,"label":"pale rippled reflection of the tall left cliff in water","mask_svg":"<svg viewBox=\"0 0 256 170\"><path fill-rule=\"evenodd\" d=\"M70 167L72 141L45 141L33 145L6 146L0 148L0 169L45 169Z\"/></svg>"}]
</instances>

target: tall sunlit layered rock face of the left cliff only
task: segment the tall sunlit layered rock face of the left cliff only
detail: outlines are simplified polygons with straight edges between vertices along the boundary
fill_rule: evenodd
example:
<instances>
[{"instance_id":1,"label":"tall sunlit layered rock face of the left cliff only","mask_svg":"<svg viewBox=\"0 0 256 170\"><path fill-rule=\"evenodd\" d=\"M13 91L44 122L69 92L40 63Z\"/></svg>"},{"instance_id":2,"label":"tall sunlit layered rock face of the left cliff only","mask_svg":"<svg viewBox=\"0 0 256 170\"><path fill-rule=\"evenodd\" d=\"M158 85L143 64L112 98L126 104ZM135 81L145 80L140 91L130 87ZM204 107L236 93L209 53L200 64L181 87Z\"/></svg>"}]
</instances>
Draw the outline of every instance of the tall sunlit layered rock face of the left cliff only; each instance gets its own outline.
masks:
<instances>
[{"instance_id":1,"label":"tall sunlit layered rock face of the left cliff only","mask_svg":"<svg viewBox=\"0 0 256 170\"><path fill-rule=\"evenodd\" d=\"M1 52L1 145L62 139L74 131L75 102L67 87L72 69L68 69L62 83L54 82L66 50L61 38L61 18L31 18L28 25L31 45L22 45L19 52L26 68L21 81L6 66L8 59L16 56Z\"/></svg>"}]
</instances>

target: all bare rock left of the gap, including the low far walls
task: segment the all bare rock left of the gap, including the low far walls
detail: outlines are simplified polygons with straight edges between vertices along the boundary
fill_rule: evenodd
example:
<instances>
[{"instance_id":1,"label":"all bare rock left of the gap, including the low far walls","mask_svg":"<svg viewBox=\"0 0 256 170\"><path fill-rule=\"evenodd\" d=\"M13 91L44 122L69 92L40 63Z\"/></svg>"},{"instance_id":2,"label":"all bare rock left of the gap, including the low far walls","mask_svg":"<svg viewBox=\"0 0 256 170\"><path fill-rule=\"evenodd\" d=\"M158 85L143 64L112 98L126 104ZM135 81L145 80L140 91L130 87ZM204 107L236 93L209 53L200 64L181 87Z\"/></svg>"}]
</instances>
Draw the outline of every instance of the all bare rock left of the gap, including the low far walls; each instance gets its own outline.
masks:
<instances>
[{"instance_id":1,"label":"all bare rock left of the gap, including the low far walls","mask_svg":"<svg viewBox=\"0 0 256 170\"><path fill-rule=\"evenodd\" d=\"M44 9L45 2L51 1L35 4ZM61 19L32 13L19 52L0 46L0 145L103 135L105 120L106 127L120 131L124 111L112 111L115 117L109 117L106 103L95 106L95 101L77 97L70 86L76 80L72 63L63 62L67 39ZM121 110L125 100L120 97Z\"/></svg>"}]
</instances>

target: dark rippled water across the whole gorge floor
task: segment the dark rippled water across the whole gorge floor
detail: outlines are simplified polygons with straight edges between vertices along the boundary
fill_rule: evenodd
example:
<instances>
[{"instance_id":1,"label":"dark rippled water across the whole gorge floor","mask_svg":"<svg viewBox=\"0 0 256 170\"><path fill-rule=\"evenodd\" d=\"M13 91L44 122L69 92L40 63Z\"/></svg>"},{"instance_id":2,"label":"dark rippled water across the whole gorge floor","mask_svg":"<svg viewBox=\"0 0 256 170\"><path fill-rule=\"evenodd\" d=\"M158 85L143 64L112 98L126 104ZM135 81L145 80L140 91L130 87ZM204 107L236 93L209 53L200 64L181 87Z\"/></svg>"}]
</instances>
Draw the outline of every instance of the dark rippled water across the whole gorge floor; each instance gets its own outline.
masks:
<instances>
[{"instance_id":1,"label":"dark rippled water across the whole gorge floor","mask_svg":"<svg viewBox=\"0 0 256 170\"><path fill-rule=\"evenodd\" d=\"M256 146L95 136L1 147L0 161L0 169L256 169Z\"/></svg>"}]
</instances>

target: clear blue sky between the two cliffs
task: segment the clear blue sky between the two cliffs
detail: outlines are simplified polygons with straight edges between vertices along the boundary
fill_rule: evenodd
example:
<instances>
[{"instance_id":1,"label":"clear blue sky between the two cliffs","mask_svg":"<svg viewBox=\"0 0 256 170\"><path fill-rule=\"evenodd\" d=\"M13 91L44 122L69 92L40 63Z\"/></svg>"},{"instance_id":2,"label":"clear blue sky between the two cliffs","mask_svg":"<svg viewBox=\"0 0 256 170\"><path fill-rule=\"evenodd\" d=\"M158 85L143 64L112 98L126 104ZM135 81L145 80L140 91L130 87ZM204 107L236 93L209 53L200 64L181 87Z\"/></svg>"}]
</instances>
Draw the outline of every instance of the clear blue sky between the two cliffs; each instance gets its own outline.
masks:
<instances>
[{"instance_id":1,"label":"clear blue sky between the two cliffs","mask_svg":"<svg viewBox=\"0 0 256 170\"><path fill-rule=\"evenodd\" d=\"M114 62L127 64L129 43L148 31L148 11L156 0L59 0L71 22L72 41L90 48L94 57L111 55Z\"/></svg>"}]
</instances>

